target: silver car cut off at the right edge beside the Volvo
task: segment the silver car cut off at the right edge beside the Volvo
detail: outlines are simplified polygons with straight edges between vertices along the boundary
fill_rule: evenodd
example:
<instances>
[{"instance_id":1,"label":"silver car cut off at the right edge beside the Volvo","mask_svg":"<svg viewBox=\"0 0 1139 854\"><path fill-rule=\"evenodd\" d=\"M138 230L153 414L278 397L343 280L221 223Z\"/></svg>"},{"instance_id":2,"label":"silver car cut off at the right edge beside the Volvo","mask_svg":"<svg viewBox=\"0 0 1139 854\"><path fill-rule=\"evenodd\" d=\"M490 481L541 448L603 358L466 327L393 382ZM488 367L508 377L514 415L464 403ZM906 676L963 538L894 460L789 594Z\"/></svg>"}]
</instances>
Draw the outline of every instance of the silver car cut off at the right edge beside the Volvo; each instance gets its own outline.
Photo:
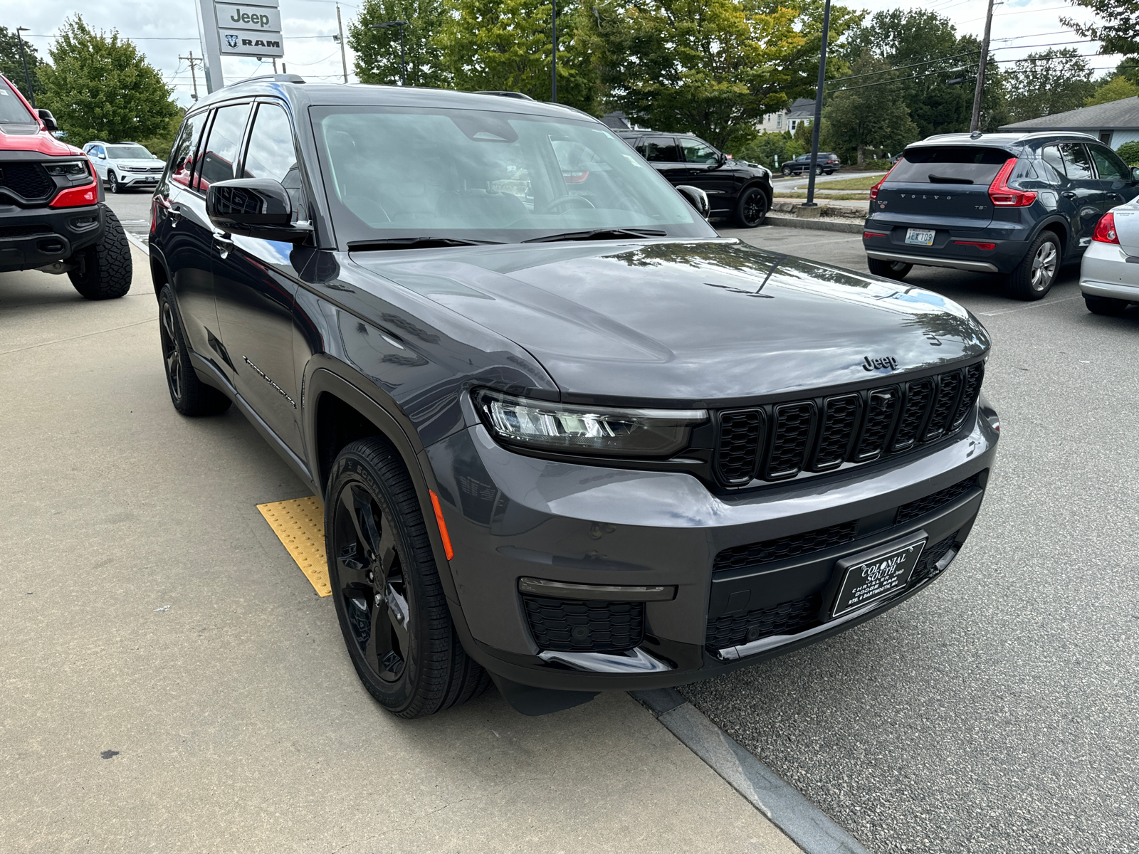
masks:
<instances>
[{"instance_id":1,"label":"silver car cut off at the right edge beside the Volvo","mask_svg":"<svg viewBox=\"0 0 1139 854\"><path fill-rule=\"evenodd\" d=\"M1122 314L1139 302L1139 197L1100 217L1080 265L1088 311Z\"/></svg>"}]
</instances>

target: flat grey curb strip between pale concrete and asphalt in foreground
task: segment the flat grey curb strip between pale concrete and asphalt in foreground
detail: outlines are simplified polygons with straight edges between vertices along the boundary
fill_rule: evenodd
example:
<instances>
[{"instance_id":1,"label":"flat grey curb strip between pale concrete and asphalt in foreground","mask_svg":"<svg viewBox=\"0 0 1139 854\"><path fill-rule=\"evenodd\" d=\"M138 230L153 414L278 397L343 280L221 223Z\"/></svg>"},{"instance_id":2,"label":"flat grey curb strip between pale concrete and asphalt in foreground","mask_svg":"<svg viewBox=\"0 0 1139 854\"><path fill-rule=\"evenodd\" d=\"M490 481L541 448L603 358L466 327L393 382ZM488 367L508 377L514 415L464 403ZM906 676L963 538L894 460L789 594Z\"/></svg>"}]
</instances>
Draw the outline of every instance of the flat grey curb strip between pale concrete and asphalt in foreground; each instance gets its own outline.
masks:
<instances>
[{"instance_id":1,"label":"flat grey curb strip between pale concrete and asphalt in foreground","mask_svg":"<svg viewBox=\"0 0 1139 854\"><path fill-rule=\"evenodd\" d=\"M659 688L630 691L629 696L806 854L869 854L797 789L697 711L680 691Z\"/></svg>"}]
</instances>

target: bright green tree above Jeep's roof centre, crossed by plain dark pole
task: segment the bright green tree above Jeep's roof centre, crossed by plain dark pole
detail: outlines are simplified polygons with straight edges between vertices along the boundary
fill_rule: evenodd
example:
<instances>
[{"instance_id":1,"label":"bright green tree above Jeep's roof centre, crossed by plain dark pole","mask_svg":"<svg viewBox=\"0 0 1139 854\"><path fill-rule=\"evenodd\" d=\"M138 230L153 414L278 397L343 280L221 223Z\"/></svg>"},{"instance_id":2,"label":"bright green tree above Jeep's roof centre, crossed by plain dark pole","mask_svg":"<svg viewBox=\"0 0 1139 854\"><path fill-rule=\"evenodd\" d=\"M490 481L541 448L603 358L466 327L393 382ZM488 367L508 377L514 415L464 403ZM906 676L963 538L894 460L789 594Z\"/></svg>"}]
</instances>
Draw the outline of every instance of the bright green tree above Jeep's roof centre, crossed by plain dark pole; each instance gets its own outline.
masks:
<instances>
[{"instance_id":1,"label":"bright green tree above Jeep's roof centre, crossed by plain dark pole","mask_svg":"<svg viewBox=\"0 0 1139 854\"><path fill-rule=\"evenodd\" d=\"M458 0L440 33L454 85L551 98L554 36L549 0ZM558 3L558 101L595 110L596 84L577 34L582 10Z\"/></svg>"}]
</instances>

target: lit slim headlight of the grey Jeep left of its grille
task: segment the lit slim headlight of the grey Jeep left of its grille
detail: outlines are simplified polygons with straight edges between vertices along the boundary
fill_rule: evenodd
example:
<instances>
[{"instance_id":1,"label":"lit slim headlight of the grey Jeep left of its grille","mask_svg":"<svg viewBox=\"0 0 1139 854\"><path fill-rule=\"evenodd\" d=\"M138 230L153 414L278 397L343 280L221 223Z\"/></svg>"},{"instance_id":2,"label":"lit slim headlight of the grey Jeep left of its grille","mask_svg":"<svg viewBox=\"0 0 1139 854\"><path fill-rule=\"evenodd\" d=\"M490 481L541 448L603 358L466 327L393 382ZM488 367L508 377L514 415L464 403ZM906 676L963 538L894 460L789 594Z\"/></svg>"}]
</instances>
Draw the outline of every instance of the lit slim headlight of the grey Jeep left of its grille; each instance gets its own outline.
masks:
<instances>
[{"instance_id":1,"label":"lit slim headlight of the grey Jeep left of its grille","mask_svg":"<svg viewBox=\"0 0 1139 854\"><path fill-rule=\"evenodd\" d=\"M503 442L546 451L616 457L666 457L688 445L702 409L611 409L515 397L489 388L474 393L486 427Z\"/></svg>"}]
</instances>

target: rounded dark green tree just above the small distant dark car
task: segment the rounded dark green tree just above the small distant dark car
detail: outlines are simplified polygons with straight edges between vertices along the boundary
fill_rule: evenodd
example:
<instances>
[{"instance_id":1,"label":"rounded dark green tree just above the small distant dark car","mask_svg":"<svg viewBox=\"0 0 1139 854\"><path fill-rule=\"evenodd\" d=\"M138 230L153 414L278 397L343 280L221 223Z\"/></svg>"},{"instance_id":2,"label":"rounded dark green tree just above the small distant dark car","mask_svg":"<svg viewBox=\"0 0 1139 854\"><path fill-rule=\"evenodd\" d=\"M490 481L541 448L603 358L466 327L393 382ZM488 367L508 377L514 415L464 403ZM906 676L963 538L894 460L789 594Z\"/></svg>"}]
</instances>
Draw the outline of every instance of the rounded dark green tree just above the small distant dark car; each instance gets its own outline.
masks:
<instances>
[{"instance_id":1,"label":"rounded dark green tree just above the small distant dark car","mask_svg":"<svg viewBox=\"0 0 1139 854\"><path fill-rule=\"evenodd\" d=\"M900 97L900 84L880 82L888 80L888 75L875 74L888 68L885 60L865 49L851 71L852 74L874 75L869 79L875 84L859 82L868 77L855 79L851 89L836 91L830 97L822 113L828 147L836 149L845 161L853 154L859 166L865 165L868 149L900 151L918 138L918 128Z\"/></svg>"}]
</instances>

